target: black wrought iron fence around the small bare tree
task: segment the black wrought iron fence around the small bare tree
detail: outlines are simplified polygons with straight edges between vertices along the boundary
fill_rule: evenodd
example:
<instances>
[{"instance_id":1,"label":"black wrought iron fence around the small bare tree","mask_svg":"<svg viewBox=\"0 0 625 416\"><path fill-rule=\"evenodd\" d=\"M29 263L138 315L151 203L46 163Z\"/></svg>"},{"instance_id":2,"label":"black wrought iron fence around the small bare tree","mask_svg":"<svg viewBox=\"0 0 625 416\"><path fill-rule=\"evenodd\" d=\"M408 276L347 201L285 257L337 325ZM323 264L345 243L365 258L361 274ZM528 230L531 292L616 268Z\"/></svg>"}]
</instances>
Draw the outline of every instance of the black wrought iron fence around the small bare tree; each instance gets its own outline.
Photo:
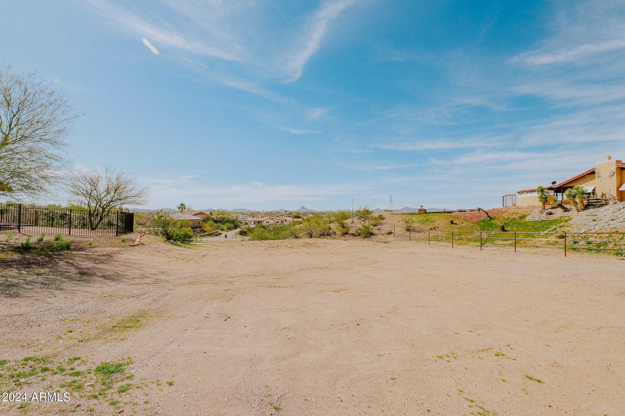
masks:
<instances>
[{"instance_id":1,"label":"black wrought iron fence around the small bare tree","mask_svg":"<svg viewBox=\"0 0 625 416\"><path fill-rule=\"evenodd\" d=\"M134 230L134 213L125 211L32 208L0 204L0 231L26 235L120 236Z\"/></svg>"}]
</instances>

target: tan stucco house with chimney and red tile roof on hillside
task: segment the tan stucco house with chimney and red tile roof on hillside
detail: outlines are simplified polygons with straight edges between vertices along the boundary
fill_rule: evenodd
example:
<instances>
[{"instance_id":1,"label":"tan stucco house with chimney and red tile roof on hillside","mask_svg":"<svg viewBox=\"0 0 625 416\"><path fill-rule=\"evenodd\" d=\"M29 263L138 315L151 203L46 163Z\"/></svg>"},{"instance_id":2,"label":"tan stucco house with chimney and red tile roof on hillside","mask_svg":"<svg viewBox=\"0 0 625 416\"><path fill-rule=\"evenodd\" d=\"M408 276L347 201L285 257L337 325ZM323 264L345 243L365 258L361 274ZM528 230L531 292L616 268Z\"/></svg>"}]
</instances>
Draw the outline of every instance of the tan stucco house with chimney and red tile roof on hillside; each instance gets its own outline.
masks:
<instances>
[{"instance_id":1,"label":"tan stucco house with chimney and red tile roof on hillside","mask_svg":"<svg viewBox=\"0 0 625 416\"><path fill-rule=\"evenodd\" d=\"M549 202L556 197L564 199L562 195L567 189L575 185L583 186L588 193L594 194L596 198L615 198L619 202L625 201L625 163L622 163L622 160L612 160L608 156L604 162L595 163L594 168L579 173L579 175L557 185L546 186L553 195L549 196ZM516 206L541 205L536 195L536 189L517 191L517 195Z\"/></svg>"}]
</instances>

